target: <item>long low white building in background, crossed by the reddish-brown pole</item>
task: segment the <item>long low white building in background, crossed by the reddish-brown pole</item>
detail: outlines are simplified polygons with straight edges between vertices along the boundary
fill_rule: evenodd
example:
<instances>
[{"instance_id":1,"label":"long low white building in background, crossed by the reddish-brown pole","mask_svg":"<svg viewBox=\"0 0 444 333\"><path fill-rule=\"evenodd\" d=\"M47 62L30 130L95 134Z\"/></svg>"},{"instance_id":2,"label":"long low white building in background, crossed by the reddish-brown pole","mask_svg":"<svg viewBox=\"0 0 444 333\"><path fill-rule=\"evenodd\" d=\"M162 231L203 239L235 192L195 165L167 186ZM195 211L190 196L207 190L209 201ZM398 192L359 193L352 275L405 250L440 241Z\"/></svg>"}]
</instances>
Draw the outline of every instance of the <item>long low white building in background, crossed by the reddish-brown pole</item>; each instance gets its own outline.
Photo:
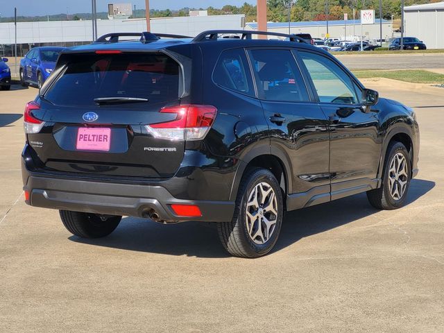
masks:
<instances>
[{"instance_id":1,"label":"long low white building in background, crossed by the reddish-brown pole","mask_svg":"<svg viewBox=\"0 0 444 333\"><path fill-rule=\"evenodd\" d=\"M246 30L257 30L257 23L247 23ZM311 37L324 39L327 34L326 21L312 22L268 22L267 30L275 33L309 33ZM347 40L359 40L361 36L361 20L348 19L329 21L328 33L330 37ZM382 20L382 39L393 37L393 25L390 21ZM363 24L362 35L364 40L379 40L379 19L374 24Z\"/></svg>"}]
</instances>

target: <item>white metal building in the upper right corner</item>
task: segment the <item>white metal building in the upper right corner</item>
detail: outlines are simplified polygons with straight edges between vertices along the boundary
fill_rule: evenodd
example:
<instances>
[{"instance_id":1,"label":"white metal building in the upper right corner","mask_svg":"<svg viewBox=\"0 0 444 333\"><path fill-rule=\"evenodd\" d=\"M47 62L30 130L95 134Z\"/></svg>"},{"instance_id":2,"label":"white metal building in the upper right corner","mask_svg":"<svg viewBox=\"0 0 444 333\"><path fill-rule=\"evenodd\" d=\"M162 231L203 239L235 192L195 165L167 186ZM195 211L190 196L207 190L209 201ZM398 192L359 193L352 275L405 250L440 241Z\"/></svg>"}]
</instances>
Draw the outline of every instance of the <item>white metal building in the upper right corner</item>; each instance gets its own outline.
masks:
<instances>
[{"instance_id":1,"label":"white metal building in the upper right corner","mask_svg":"<svg viewBox=\"0 0 444 333\"><path fill-rule=\"evenodd\" d=\"M417 37L427 49L444 49L444 2L404 7L404 36Z\"/></svg>"}]
</instances>

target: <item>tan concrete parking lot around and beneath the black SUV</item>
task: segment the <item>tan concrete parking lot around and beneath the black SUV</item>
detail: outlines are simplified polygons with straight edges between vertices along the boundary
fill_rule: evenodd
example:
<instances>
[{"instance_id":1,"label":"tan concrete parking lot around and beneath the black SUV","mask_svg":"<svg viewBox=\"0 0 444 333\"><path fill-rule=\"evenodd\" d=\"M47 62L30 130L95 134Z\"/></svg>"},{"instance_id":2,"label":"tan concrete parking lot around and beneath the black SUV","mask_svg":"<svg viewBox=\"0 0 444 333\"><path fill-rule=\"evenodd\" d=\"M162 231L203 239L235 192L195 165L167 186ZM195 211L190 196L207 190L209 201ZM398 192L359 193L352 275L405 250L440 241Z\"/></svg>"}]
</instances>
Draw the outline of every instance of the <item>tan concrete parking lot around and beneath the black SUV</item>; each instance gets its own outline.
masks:
<instances>
[{"instance_id":1,"label":"tan concrete parking lot around and beneath the black SUV","mask_svg":"<svg viewBox=\"0 0 444 333\"><path fill-rule=\"evenodd\" d=\"M24 204L21 116L37 90L0 92L0 332L443 332L444 89L365 82L417 112L408 205L359 194L291 212L259 259L228 257L199 223L71 236Z\"/></svg>"}]
</instances>

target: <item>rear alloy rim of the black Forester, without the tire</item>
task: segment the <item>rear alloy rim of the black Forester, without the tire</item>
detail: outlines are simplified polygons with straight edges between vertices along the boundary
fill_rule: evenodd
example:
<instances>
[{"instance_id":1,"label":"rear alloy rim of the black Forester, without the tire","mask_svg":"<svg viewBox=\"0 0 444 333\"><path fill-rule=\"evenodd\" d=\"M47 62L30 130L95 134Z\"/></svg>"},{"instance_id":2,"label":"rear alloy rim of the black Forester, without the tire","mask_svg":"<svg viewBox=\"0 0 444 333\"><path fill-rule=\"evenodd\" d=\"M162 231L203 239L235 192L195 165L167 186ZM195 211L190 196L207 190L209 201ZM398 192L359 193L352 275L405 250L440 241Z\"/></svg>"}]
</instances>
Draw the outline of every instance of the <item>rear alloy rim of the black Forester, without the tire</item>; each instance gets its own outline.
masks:
<instances>
[{"instance_id":1,"label":"rear alloy rim of the black Forester, without the tire","mask_svg":"<svg viewBox=\"0 0 444 333\"><path fill-rule=\"evenodd\" d=\"M246 227L255 244L265 244L275 231L278 221L278 200L273 187L259 182L248 195Z\"/></svg>"}]
</instances>

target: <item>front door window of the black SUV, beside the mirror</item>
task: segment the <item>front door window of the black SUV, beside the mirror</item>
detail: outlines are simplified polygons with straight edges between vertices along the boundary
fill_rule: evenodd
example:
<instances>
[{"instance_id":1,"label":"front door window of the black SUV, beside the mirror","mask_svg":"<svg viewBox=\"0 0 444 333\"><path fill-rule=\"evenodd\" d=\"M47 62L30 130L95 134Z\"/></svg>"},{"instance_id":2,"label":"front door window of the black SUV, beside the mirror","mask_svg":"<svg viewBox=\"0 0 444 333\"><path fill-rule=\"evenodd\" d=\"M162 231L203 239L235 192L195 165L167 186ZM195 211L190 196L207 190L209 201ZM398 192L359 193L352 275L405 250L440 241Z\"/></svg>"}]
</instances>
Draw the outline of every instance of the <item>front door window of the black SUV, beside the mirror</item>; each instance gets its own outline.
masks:
<instances>
[{"instance_id":1,"label":"front door window of the black SUV, beside the mirror","mask_svg":"<svg viewBox=\"0 0 444 333\"><path fill-rule=\"evenodd\" d=\"M357 104L352 80L332 60L315 53L299 52L323 103Z\"/></svg>"}]
</instances>

